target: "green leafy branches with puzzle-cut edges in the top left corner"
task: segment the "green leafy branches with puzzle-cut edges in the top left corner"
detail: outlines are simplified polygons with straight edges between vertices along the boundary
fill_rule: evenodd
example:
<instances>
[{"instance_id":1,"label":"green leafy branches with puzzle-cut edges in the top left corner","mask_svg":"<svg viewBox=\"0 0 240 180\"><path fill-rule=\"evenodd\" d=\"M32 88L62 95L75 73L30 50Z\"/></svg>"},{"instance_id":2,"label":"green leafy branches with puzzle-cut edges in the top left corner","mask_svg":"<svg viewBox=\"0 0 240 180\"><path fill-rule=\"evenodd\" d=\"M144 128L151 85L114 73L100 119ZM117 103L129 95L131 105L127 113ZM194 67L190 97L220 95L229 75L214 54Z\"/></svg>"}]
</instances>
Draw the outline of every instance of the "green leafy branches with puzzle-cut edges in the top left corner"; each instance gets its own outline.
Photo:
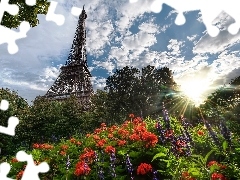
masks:
<instances>
[{"instance_id":1,"label":"green leafy branches with puzzle-cut edges in the top left corner","mask_svg":"<svg viewBox=\"0 0 240 180\"><path fill-rule=\"evenodd\" d=\"M39 24L38 14L47 14L50 3L47 0L36 0L36 5L28 6L25 0L10 0L9 4L16 4L19 7L17 15L13 16L4 12L1 25L8 28L17 28L22 21L29 22L31 27Z\"/></svg>"}]
</instances>

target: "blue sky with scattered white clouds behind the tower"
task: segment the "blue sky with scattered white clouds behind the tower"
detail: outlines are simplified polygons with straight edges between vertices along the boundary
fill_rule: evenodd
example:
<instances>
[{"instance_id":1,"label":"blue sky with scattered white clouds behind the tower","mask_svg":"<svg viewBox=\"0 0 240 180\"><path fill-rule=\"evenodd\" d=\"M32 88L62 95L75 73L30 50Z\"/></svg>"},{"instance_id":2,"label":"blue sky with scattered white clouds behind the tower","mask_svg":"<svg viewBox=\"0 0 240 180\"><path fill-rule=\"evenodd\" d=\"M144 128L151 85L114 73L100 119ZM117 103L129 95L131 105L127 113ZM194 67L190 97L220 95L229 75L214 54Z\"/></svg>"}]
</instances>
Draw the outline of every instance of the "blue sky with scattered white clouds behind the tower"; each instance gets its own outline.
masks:
<instances>
[{"instance_id":1,"label":"blue sky with scattered white clouds behind the tower","mask_svg":"<svg viewBox=\"0 0 240 180\"><path fill-rule=\"evenodd\" d=\"M56 14L65 17L58 26L39 15L40 24L31 28L27 38L17 40L18 53L10 55L7 44L0 45L0 87L18 92L29 103L44 95L65 64L78 16L72 7L85 4L88 15L87 55L94 90L103 89L105 80L116 68L169 67L174 80L203 100L209 93L240 75L239 37L228 33L234 19L225 12L213 24L221 29L208 35L200 11L184 13L186 23L174 23L177 12L163 4L160 13L150 10L153 0L59 0ZM196 83L198 82L198 83ZM193 97L196 95L192 95Z\"/></svg>"}]
</instances>

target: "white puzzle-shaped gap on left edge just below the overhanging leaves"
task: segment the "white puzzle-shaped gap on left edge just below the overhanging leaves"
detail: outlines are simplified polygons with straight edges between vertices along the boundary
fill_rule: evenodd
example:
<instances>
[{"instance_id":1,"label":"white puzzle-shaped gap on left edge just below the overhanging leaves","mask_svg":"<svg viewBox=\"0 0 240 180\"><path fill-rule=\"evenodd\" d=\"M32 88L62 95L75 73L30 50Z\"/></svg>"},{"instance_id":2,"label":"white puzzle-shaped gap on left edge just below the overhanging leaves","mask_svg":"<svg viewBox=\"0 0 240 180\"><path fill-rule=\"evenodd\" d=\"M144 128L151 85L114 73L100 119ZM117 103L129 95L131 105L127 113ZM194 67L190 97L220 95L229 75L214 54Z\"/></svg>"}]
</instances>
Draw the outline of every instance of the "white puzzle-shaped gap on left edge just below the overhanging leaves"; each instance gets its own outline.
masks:
<instances>
[{"instance_id":1,"label":"white puzzle-shaped gap on left edge just below the overhanging leaves","mask_svg":"<svg viewBox=\"0 0 240 180\"><path fill-rule=\"evenodd\" d=\"M8 43L8 52L10 54L18 52L18 46L15 41L27 37L27 32L30 30L30 24L26 21L21 22L19 30L19 32L15 32L0 25L0 44Z\"/></svg>"}]
</instances>

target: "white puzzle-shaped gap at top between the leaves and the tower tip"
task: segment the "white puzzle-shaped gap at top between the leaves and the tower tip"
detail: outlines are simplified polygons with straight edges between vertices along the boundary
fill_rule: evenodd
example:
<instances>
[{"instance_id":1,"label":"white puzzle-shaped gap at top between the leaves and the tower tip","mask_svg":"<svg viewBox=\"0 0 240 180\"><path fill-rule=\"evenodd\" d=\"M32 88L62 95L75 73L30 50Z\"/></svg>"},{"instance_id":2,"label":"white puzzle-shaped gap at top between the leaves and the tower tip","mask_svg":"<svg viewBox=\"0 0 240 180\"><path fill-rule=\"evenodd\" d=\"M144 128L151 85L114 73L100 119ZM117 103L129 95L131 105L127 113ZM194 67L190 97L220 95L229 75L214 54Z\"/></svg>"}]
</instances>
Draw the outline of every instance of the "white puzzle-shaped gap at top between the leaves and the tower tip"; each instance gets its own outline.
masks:
<instances>
[{"instance_id":1,"label":"white puzzle-shaped gap at top between the leaves and the tower tip","mask_svg":"<svg viewBox=\"0 0 240 180\"><path fill-rule=\"evenodd\" d=\"M61 14L55 14L54 11L57 7L58 2L51 1L50 6L48 8L48 13L46 15L46 21L53 21L58 26L61 26L64 24L65 17Z\"/></svg>"}]
</instances>

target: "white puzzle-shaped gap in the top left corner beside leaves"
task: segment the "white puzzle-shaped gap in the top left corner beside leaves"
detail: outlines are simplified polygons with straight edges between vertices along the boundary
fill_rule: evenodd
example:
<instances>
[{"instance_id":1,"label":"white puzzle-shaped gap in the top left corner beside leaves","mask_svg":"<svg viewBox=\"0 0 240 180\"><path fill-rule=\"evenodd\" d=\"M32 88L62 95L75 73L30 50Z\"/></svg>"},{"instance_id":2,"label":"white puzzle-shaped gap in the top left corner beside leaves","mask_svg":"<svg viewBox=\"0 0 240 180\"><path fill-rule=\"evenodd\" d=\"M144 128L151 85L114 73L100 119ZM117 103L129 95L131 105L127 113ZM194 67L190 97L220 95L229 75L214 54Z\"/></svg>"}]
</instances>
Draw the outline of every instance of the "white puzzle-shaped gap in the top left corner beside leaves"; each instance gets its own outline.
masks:
<instances>
[{"instance_id":1,"label":"white puzzle-shaped gap in the top left corner beside leaves","mask_svg":"<svg viewBox=\"0 0 240 180\"><path fill-rule=\"evenodd\" d=\"M2 17L5 11L11 15L16 15L19 11L19 7L15 4L9 4L9 0L1 0L0 1L0 22L2 21Z\"/></svg>"}]
</instances>

